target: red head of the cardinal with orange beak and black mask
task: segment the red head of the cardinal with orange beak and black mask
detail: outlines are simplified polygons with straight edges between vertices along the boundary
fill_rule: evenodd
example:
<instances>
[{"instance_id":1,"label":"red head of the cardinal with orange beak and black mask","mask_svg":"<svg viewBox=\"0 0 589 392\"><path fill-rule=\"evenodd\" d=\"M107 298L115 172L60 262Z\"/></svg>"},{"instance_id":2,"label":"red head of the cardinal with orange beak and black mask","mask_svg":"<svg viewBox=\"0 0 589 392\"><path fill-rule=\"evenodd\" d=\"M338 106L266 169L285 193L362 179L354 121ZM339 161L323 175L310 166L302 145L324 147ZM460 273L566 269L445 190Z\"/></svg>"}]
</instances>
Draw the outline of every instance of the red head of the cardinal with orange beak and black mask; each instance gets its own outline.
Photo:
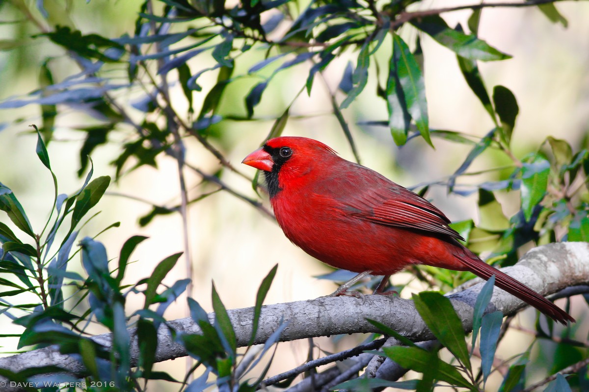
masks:
<instances>
[{"instance_id":1,"label":"red head of the cardinal with orange beak and black mask","mask_svg":"<svg viewBox=\"0 0 589 392\"><path fill-rule=\"evenodd\" d=\"M308 138L281 136L268 140L241 162L264 171L270 197L311 172L325 160L336 157L335 151Z\"/></svg>"}]
</instances>

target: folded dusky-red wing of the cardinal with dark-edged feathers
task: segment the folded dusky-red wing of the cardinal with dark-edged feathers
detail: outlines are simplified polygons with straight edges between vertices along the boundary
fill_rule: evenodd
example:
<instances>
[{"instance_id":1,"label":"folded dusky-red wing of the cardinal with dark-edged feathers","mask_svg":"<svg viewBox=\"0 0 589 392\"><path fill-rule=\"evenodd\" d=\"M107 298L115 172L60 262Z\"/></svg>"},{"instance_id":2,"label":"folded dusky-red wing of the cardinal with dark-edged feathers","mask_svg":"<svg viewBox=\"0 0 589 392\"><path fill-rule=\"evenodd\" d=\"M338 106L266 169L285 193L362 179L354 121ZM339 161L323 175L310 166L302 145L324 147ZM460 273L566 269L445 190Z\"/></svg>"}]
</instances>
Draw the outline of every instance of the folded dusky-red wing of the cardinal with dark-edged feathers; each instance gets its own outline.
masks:
<instances>
[{"instance_id":1,"label":"folded dusky-red wing of the cardinal with dark-edged feathers","mask_svg":"<svg viewBox=\"0 0 589 392\"><path fill-rule=\"evenodd\" d=\"M360 219L386 226L445 234L464 240L448 226L450 220L428 200L411 190L387 180L378 187L365 188L355 195L346 195L343 202L349 213Z\"/></svg>"}]
</instances>

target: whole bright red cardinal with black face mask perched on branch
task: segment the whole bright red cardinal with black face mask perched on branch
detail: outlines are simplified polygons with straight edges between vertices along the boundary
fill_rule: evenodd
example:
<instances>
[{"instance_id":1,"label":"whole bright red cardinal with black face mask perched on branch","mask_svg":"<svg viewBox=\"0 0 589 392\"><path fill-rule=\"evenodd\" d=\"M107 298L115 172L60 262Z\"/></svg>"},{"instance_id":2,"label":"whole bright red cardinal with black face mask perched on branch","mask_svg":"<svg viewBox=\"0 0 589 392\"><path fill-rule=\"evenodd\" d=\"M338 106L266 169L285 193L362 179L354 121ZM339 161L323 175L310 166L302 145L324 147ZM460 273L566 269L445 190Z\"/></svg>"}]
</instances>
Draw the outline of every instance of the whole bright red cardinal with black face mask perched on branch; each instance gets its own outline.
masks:
<instances>
[{"instance_id":1,"label":"whole bright red cardinal with black face mask perched on branch","mask_svg":"<svg viewBox=\"0 0 589 392\"><path fill-rule=\"evenodd\" d=\"M280 227L294 244L330 266L384 275L411 264L470 271L555 321L575 321L534 290L483 262L458 240L434 205L317 140L270 139L242 163L264 171ZM343 294L351 284L342 286ZM336 294L334 293L334 294Z\"/></svg>"}]
</instances>

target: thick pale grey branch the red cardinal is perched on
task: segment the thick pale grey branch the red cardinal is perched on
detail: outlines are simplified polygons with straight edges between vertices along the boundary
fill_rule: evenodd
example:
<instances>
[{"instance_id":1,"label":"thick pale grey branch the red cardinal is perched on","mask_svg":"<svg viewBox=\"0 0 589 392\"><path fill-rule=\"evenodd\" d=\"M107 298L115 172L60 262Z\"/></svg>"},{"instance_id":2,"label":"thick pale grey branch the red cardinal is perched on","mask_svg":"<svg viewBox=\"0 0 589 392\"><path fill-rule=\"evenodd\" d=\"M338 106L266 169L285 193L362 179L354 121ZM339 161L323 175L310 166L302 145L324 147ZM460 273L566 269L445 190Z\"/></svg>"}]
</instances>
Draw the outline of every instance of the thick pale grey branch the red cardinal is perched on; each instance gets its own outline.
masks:
<instances>
[{"instance_id":1,"label":"thick pale grey branch the red cardinal is perched on","mask_svg":"<svg viewBox=\"0 0 589 392\"><path fill-rule=\"evenodd\" d=\"M589 243L551 243L532 249L515 266L502 270L538 293L548 295L560 292L565 287L589 283L588 259ZM449 295L465 331L472 329L472 311L481 289L482 283L478 283ZM501 310L505 315L511 315L525 306L521 300L495 288L487 311ZM229 317L236 329L237 345L247 346L252 334L253 308L229 310ZM416 311L413 301L398 297L369 295L365 297L364 303L355 297L320 297L267 305L262 308L260 317L254 344L264 343L283 321L289 324L280 336L280 341L334 334L378 333L378 329L366 319L380 321L412 341L434 339ZM214 313L209 313L209 319L214 320ZM158 330L155 356L158 362L187 355L184 347L173 341L168 328L182 333L200 333L200 329L190 318L169 321L167 326L161 326ZM139 357L135 329L130 329L130 334L133 337L131 361L135 366ZM110 334L98 335L92 339L105 347L111 346ZM59 366L77 377L88 374L80 361L73 356L59 353L55 346L0 359L0 368L15 373L31 367L32 364L39 367Z\"/></svg>"}]
</instances>

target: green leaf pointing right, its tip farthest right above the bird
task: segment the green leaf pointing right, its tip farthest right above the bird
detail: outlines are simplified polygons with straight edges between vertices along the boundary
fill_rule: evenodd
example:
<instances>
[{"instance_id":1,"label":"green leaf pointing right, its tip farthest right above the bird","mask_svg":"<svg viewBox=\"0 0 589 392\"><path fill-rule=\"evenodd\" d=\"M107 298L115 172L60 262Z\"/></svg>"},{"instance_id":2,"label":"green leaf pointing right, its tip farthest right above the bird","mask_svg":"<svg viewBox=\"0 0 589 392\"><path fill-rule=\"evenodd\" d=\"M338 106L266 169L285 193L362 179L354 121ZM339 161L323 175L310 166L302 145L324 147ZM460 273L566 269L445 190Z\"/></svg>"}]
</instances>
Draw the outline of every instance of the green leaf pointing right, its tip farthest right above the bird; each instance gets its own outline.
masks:
<instances>
[{"instance_id":1,"label":"green leaf pointing right, its tip farthest right above the bird","mask_svg":"<svg viewBox=\"0 0 589 392\"><path fill-rule=\"evenodd\" d=\"M411 24L427 33L441 45L471 60L497 61L511 58L498 51L474 34L465 34L449 28L439 15L425 16L411 21Z\"/></svg>"}]
</instances>

